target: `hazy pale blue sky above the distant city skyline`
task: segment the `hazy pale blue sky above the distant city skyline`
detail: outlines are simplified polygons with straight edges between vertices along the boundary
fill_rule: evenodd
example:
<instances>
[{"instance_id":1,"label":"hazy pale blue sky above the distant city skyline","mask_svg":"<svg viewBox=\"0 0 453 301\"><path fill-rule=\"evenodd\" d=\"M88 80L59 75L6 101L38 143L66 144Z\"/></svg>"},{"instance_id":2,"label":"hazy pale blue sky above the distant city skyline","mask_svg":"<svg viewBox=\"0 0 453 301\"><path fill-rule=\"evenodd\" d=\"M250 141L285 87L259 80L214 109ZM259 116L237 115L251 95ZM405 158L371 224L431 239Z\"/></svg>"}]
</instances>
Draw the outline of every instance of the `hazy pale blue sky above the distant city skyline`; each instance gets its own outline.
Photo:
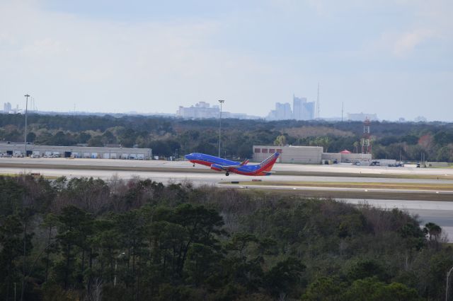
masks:
<instances>
[{"instance_id":1,"label":"hazy pale blue sky above the distant city skyline","mask_svg":"<svg viewBox=\"0 0 453 301\"><path fill-rule=\"evenodd\" d=\"M0 103L453 121L453 1L0 0Z\"/></svg>"}]
</instances>

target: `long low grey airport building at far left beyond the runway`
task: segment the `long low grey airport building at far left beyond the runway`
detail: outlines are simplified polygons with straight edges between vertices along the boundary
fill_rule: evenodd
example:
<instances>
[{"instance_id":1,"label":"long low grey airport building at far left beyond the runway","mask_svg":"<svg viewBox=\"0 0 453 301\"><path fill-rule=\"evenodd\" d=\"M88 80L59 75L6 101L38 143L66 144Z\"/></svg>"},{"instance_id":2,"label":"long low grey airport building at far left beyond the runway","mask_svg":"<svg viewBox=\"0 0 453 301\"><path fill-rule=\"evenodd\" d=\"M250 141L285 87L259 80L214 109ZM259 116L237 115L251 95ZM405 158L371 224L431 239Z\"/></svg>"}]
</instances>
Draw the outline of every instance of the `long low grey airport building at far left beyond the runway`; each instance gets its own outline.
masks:
<instances>
[{"instance_id":1,"label":"long low grey airport building at far left beyond the runway","mask_svg":"<svg viewBox=\"0 0 453 301\"><path fill-rule=\"evenodd\" d=\"M0 143L0 154L22 157L23 143ZM40 158L101 158L101 159L137 159L149 160L151 148L89 147L89 146L36 146L27 144L27 155Z\"/></svg>"}]
</instances>

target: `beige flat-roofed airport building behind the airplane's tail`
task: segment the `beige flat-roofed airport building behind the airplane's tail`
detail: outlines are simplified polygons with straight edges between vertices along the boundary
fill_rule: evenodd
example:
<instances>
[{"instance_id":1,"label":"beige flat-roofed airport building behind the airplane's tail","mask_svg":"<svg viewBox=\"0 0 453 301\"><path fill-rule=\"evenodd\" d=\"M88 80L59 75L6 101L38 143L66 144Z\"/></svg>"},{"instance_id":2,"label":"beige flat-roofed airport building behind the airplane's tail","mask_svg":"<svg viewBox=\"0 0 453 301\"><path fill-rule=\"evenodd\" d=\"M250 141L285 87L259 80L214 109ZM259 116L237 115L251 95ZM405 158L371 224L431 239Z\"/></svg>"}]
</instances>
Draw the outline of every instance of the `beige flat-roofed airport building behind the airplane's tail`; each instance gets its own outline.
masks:
<instances>
[{"instance_id":1,"label":"beige flat-roofed airport building behind the airplane's tail","mask_svg":"<svg viewBox=\"0 0 453 301\"><path fill-rule=\"evenodd\" d=\"M253 146L253 161L261 162L273 153L280 153L278 163L333 164L361 163L369 165L371 154L323 153L321 146Z\"/></svg>"}]
</instances>

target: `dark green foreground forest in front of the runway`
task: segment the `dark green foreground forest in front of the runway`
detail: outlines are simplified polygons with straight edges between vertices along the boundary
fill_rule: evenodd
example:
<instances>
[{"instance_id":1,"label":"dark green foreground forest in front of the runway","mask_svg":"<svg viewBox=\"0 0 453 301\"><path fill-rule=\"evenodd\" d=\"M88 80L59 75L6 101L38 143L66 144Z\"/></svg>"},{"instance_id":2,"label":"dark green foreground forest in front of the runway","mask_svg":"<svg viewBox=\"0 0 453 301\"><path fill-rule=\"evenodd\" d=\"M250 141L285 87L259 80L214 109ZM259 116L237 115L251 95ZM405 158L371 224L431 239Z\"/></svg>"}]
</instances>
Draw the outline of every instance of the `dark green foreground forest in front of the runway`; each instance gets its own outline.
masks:
<instances>
[{"instance_id":1,"label":"dark green foreground forest in front of the runway","mask_svg":"<svg viewBox=\"0 0 453 301\"><path fill-rule=\"evenodd\" d=\"M441 300L453 249L398 209L151 179L0 176L2 300Z\"/></svg>"}]
</instances>

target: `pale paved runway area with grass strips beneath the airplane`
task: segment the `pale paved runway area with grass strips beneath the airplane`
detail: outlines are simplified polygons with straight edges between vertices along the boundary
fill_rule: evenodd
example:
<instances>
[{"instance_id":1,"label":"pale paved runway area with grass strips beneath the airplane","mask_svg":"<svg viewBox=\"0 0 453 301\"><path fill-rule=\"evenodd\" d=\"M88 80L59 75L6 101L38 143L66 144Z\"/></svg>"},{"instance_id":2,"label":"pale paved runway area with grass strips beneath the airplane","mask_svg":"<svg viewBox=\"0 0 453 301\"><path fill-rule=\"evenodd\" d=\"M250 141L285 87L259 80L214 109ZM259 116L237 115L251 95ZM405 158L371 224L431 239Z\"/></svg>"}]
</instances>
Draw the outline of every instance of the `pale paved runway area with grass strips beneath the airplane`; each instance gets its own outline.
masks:
<instances>
[{"instance_id":1,"label":"pale paved runway area with grass strips beneath the airplane","mask_svg":"<svg viewBox=\"0 0 453 301\"><path fill-rule=\"evenodd\" d=\"M183 161L0 158L0 174L3 175L33 172L47 177L96 177L105 180L113 176L121 179L140 177L164 184L190 181L196 187L213 185L238 189L268 189L303 196L327 196L348 203L366 201L372 206L401 208L418 215L422 225L428 222L437 223L449 237L452 237L449 238L449 241L453 242L453 169L451 168L275 164L273 171L275 171L275 175L270 177L247 177L234 174L226 177L223 173L214 172L207 167L198 165L193 167L192 164ZM312 173L314 175L311 175ZM406 176L409 178L403 178ZM418 176L425 178L418 178ZM241 184L219 184L219 182L243 182L252 179L260 179L263 185L243 187ZM452 191L407 191L405 189L379 188L365 191L365 189L334 187L271 187L265 184L270 180L272 182L452 184ZM374 196L379 196L379 199Z\"/></svg>"}]
</instances>

